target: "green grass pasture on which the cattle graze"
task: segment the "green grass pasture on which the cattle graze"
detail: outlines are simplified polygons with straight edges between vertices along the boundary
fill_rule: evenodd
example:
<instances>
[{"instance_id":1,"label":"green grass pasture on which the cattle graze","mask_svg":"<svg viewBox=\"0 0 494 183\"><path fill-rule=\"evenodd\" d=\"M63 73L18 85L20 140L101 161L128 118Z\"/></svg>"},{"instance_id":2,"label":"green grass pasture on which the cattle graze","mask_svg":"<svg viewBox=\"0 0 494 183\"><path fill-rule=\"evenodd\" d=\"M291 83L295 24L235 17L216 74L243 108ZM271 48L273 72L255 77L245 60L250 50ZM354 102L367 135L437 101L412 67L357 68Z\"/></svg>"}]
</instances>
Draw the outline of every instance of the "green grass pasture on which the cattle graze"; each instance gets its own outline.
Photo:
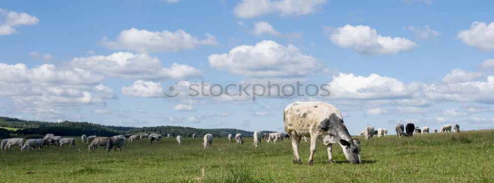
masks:
<instances>
[{"instance_id":1,"label":"green grass pasture on which the cattle graze","mask_svg":"<svg viewBox=\"0 0 494 183\"><path fill-rule=\"evenodd\" d=\"M175 138L161 143L128 143L122 152L99 147L64 146L21 153L0 152L1 182L494 182L494 130L386 136L362 140L364 164L350 164L339 146L336 163L327 164L318 142L314 165L307 165L309 143L301 143L303 164L292 164L291 141L258 148L214 138L203 149L202 138ZM202 175L204 168L205 176ZM28 174L28 172L31 172Z\"/></svg>"}]
</instances>

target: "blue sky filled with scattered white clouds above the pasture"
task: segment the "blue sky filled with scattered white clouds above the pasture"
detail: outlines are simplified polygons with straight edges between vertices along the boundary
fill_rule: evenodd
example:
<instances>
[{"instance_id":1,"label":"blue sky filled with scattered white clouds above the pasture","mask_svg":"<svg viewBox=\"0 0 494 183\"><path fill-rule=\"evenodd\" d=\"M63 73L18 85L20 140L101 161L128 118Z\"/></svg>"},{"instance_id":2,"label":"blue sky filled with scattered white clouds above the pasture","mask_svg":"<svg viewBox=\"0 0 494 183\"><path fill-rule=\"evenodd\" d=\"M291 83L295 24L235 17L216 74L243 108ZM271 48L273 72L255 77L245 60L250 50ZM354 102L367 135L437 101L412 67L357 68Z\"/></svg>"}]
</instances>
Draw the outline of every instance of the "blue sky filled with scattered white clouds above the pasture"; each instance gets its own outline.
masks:
<instances>
[{"instance_id":1,"label":"blue sky filled with scattered white clouds above the pasture","mask_svg":"<svg viewBox=\"0 0 494 183\"><path fill-rule=\"evenodd\" d=\"M323 101L341 111L354 135L366 126L392 134L398 123L492 129L493 6L445 0L1 1L0 115L283 131L287 105ZM329 84L330 95L255 101L188 95L191 84L214 94L220 87L212 84L297 81Z\"/></svg>"}]
</instances>

